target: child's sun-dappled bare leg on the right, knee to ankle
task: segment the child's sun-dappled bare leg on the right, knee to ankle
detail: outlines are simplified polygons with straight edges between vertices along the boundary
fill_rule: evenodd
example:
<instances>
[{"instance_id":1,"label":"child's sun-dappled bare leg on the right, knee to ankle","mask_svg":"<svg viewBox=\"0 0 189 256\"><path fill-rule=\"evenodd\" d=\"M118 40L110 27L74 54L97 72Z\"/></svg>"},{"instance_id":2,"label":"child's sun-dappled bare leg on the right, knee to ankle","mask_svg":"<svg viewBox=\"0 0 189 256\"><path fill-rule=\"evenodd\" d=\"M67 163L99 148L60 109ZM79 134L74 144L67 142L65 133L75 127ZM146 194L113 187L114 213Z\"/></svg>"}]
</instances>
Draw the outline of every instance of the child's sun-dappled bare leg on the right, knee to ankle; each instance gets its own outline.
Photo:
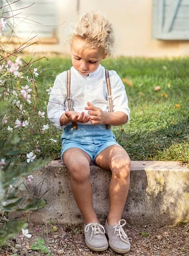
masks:
<instances>
[{"instance_id":1,"label":"child's sun-dappled bare leg on the right, knee to ankle","mask_svg":"<svg viewBox=\"0 0 189 256\"><path fill-rule=\"evenodd\" d=\"M112 172L109 185L110 210L108 224L117 224L122 217L130 184L130 158L127 152L118 145L112 145L102 151L95 163Z\"/></svg>"}]
</instances>

